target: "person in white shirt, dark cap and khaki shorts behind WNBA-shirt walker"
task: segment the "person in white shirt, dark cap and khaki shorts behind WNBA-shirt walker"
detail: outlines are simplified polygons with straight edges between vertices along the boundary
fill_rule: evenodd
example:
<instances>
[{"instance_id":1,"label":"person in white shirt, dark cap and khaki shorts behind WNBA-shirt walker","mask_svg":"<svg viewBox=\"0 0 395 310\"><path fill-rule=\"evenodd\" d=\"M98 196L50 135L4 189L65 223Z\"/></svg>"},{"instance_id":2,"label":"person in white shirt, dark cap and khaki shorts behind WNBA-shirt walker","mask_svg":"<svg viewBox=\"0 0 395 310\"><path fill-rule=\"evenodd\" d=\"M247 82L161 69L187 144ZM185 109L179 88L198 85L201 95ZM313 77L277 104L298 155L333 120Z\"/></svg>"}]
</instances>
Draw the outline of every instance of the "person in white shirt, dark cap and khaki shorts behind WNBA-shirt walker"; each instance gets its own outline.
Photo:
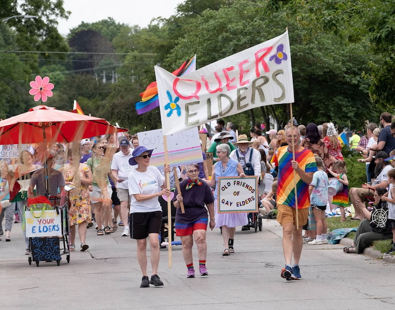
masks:
<instances>
[{"instance_id":1,"label":"person in white shirt, dark cap and khaki shorts behind WNBA-shirt walker","mask_svg":"<svg viewBox=\"0 0 395 310\"><path fill-rule=\"evenodd\" d=\"M111 173L116 180L115 188L117 196L121 202L121 221L128 222L129 209L129 190L128 181L129 172L132 171L132 166L129 164L129 159L132 157L132 149L130 148L129 140L124 137L120 141L120 152L115 153L111 162ZM130 236L129 226L124 226L122 236Z\"/></svg>"}]
</instances>

